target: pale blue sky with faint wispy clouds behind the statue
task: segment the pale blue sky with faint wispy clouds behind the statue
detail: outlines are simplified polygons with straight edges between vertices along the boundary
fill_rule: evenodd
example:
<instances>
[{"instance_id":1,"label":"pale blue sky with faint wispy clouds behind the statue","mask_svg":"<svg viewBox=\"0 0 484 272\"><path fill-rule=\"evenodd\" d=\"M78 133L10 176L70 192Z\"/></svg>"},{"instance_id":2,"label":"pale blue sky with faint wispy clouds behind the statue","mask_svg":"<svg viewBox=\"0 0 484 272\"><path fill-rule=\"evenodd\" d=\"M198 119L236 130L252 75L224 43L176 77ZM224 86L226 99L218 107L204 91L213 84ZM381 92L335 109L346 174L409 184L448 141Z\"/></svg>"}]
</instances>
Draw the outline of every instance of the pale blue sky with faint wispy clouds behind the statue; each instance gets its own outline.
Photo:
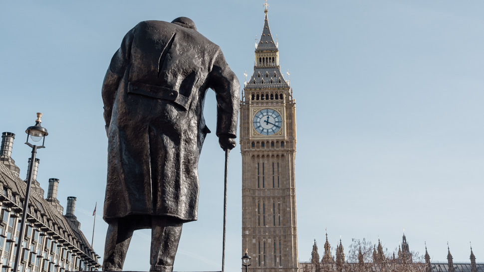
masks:
<instances>
[{"instance_id":1,"label":"pale blue sky with faint wispy clouds behind the statue","mask_svg":"<svg viewBox=\"0 0 484 272\"><path fill-rule=\"evenodd\" d=\"M262 0L0 1L0 131L17 135L13 159L25 178L24 131L44 114L47 148L38 181L60 179L58 199L103 255L107 138L101 84L124 34L142 20L192 18L219 44L243 83L253 71ZM481 0L269 0L281 70L297 102L296 201L300 261L313 237L382 240L402 228L410 250L484 260L484 2ZM209 91L205 119L214 131ZM230 157L227 271L241 268L241 155ZM199 164L199 221L184 225L177 271L220 270L224 152L215 134ZM149 270L149 231L135 233L125 270ZM320 253L321 254L321 253Z\"/></svg>"}]
</instances>

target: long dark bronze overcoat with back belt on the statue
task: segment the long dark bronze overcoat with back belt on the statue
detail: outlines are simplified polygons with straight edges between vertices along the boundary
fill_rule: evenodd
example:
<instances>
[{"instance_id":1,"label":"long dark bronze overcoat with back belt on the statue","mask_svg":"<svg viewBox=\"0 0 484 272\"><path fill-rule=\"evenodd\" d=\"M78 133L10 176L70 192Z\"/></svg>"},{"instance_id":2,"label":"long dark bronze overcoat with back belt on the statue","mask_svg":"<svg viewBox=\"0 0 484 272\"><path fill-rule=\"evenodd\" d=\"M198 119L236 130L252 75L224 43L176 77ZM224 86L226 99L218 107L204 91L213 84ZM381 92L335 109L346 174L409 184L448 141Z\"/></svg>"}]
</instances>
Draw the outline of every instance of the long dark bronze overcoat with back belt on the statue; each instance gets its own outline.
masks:
<instances>
[{"instance_id":1,"label":"long dark bronze overcoat with back belt on the statue","mask_svg":"<svg viewBox=\"0 0 484 272\"><path fill-rule=\"evenodd\" d=\"M240 86L219 46L164 21L140 22L126 34L102 89L105 220L131 214L197 220L208 88L216 92L217 136L235 138Z\"/></svg>"}]
</instances>

